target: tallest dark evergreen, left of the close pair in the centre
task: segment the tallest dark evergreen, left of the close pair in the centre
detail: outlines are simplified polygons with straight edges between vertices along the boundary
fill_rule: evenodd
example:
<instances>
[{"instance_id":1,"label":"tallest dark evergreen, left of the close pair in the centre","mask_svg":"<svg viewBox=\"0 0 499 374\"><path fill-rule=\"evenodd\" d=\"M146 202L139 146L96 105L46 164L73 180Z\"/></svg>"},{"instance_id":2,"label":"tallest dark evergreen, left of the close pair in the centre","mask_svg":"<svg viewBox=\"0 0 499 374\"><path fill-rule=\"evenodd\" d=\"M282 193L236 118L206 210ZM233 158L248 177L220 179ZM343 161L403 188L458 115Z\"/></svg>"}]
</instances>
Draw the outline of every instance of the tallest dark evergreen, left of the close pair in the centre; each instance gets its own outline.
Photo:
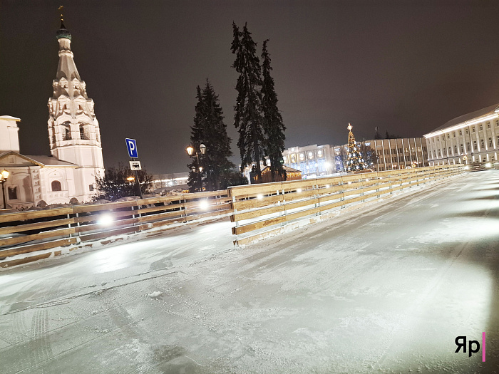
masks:
<instances>
[{"instance_id":1,"label":"tallest dark evergreen, left of the close pair in the centre","mask_svg":"<svg viewBox=\"0 0 499 374\"><path fill-rule=\"evenodd\" d=\"M236 55L232 64L239 77L237 78L237 100L234 107L234 125L239 131L237 147L241 154L241 169L254 162L258 182L262 182L260 160L264 160L265 137L264 118L262 115L262 78L260 76L260 63L256 56L256 46L247 29L247 24L242 29L232 23L234 40L231 51Z\"/></svg>"}]
</instances>

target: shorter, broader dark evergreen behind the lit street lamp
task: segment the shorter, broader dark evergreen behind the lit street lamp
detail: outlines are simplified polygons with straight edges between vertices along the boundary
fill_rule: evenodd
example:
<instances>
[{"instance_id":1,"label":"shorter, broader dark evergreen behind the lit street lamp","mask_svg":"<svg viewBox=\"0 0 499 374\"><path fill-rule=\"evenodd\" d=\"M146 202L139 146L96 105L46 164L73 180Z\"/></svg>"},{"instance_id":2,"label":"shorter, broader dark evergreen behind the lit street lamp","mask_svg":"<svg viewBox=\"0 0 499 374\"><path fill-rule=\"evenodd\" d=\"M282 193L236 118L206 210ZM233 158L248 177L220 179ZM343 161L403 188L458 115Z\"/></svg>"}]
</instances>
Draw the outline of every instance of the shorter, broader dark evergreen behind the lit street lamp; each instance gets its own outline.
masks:
<instances>
[{"instance_id":1,"label":"shorter, broader dark evergreen behind the lit street lamp","mask_svg":"<svg viewBox=\"0 0 499 374\"><path fill-rule=\"evenodd\" d=\"M220 107L218 95L208 79L202 91L197 86L196 98L197 104L190 140L195 150L199 150L200 145L204 144L207 151L205 155L199 155L199 164L197 158L194 157L187 165L191 169L187 183L191 190L201 190L200 175L197 171L199 167L202 167L201 177L205 180L205 188L220 189L225 173L235 166L228 160L232 156L231 140L227 136L227 125L223 121L223 110ZM196 172L192 172L192 167L196 168Z\"/></svg>"}]
</instances>

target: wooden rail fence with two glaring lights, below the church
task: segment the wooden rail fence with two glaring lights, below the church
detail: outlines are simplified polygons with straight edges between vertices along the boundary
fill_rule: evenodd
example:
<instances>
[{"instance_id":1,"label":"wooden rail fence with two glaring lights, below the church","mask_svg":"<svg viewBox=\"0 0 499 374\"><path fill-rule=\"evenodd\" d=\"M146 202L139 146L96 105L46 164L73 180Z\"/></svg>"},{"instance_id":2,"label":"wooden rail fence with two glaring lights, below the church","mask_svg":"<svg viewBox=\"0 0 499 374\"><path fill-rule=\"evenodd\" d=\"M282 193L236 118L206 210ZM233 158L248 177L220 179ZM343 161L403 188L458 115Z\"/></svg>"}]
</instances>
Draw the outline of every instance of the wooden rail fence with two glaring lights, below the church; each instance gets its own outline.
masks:
<instances>
[{"instance_id":1,"label":"wooden rail fence with two glaring lights, below the church","mask_svg":"<svg viewBox=\"0 0 499 374\"><path fill-rule=\"evenodd\" d=\"M1 214L0 260L4 260L1 266L29 261L17 259L19 254L38 251L38 255L30 257L31 261L37 261L61 254L61 251L40 254L58 246L79 246L115 235L168 229L215 218L231 212L230 200L227 190L222 190ZM16 260L9 261L10 256L16 256Z\"/></svg>"}]
</instances>

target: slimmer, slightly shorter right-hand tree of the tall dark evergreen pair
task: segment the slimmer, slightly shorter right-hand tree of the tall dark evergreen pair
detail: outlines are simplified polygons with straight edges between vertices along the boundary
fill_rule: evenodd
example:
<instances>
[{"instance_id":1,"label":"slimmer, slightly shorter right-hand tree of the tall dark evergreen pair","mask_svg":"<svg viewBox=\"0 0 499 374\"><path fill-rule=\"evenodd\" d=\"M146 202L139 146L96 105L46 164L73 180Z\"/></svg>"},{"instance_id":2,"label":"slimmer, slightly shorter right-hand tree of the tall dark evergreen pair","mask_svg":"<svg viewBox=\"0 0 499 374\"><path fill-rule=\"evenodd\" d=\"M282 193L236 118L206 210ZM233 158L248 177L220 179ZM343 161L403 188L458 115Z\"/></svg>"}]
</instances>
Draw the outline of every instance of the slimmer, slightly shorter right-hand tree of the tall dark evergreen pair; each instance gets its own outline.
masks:
<instances>
[{"instance_id":1,"label":"slimmer, slightly shorter right-hand tree of the tall dark evergreen pair","mask_svg":"<svg viewBox=\"0 0 499 374\"><path fill-rule=\"evenodd\" d=\"M270 172L272 182L276 175L281 175L286 180L286 171L282 162L284 151L284 130L286 127L282 122L282 115L277 108L277 93L274 89L274 78L270 76L270 56L267 51L267 39L262 48L262 109L264 115L264 132L267 137L267 156L270 160Z\"/></svg>"}]
</instances>

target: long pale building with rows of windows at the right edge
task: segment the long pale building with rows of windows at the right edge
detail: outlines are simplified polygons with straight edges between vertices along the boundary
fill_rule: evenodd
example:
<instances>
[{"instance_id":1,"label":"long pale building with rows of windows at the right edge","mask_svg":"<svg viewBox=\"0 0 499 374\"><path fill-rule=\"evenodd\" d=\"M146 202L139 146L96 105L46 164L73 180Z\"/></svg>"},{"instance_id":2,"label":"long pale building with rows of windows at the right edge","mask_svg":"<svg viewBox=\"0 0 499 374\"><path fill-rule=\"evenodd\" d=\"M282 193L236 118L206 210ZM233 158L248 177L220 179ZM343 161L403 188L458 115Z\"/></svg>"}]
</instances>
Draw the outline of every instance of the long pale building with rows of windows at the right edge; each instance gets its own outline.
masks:
<instances>
[{"instance_id":1,"label":"long pale building with rows of windows at the right edge","mask_svg":"<svg viewBox=\"0 0 499 374\"><path fill-rule=\"evenodd\" d=\"M499 104L462 115L424 135L430 165L497 162Z\"/></svg>"}]
</instances>

